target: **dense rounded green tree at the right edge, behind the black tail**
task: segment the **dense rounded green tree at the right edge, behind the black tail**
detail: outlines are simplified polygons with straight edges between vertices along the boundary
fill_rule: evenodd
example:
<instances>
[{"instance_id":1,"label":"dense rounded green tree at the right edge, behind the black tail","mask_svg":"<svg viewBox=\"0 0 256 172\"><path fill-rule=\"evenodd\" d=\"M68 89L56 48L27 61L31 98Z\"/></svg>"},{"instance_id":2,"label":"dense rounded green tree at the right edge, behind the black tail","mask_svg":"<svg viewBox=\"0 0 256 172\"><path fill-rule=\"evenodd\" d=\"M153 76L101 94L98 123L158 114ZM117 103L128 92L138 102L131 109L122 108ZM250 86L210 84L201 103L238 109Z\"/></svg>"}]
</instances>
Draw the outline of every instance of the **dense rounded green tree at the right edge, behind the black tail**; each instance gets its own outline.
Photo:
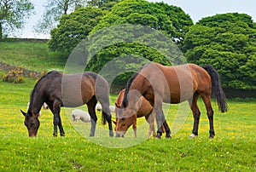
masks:
<instances>
[{"instance_id":1,"label":"dense rounded green tree at the right edge, behind the black tail","mask_svg":"<svg viewBox=\"0 0 256 172\"><path fill-rule=\"evenodd\" d=\"M256 23L247 14L217 14L191 26L183 41L189 62L211 64L225 88L256 89Z\"/></svg>"}]
</instances>

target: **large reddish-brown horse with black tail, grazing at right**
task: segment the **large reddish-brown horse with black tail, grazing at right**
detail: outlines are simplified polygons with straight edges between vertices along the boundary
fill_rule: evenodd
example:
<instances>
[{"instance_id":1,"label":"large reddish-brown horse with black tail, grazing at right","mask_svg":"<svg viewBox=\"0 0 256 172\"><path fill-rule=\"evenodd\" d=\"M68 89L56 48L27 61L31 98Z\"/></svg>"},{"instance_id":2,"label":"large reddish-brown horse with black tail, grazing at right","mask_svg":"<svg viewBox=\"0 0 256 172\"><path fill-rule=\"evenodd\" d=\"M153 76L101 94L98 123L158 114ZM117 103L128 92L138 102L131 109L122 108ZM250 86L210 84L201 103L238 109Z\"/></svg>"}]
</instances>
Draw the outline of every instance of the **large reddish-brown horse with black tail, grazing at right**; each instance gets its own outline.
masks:
<instances>
[{"instance_id":1,"label":"large reddish-brown horse with black tail, grazing at right","mask_svg":"<svg viewBox=\"0 0 256 172\"><path fill-rule=\"evenodd\" d=\"M194 128L190 137L198 135L198 124L201 112L197 106L197 100L201 96L207 108L207 116L210 123L210 138L215 135L213 129L213 111L211 95L218 101L221 112L227 111L224 92L221 88L218 72L210 65L197 66L187 64L181 66L162 66L158 63L148 63L128 81L125 87L125 95L119 110L119 118L127 117L137 112L137 100L143 96L154 106L158 125L157 137L162 135L163 123L166 129L166 138L171 135L165 116L162 111L162 103L177 104L189 100L189 106L194 116ZM119 136L119 135L116 135Z\"/></svg>"}]
</instances>

